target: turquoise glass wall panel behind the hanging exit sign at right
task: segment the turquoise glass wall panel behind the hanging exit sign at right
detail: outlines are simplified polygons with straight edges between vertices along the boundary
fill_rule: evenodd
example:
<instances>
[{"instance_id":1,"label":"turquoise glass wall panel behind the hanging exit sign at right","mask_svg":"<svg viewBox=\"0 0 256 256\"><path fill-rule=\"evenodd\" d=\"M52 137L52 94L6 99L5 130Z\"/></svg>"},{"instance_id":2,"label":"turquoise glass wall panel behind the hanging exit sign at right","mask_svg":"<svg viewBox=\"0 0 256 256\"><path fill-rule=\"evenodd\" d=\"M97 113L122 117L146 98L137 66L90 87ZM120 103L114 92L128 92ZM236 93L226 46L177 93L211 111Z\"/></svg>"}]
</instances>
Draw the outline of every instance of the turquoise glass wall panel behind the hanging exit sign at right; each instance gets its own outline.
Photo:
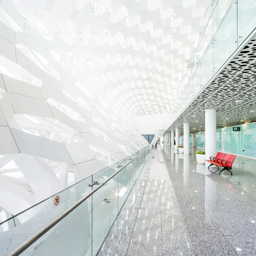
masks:
<instances>
[{"instance_id":1,"label":"turquoise glass wall panel behind the hanging exit sign at right","mask_svg":"<svg viewBox=\"0 0 256 256\"><path fill-rule=\"evenodd\" d=\"M224 128L224 151L248 157L256 156L256 123L238 125L240 131L233 127Z\"/></svg>"}]
</instances>

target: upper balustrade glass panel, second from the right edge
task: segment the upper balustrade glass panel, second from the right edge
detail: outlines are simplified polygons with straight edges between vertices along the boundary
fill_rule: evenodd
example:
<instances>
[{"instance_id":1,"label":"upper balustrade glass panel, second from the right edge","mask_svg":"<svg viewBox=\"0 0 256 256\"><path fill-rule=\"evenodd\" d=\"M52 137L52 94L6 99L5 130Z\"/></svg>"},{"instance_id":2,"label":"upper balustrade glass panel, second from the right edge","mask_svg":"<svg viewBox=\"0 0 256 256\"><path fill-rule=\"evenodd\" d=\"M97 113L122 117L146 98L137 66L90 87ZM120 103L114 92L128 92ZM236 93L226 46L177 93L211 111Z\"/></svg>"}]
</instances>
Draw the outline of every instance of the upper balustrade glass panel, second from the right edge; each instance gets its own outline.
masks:
<instances>
[{"instance_id":1,"label":"upper balustrade glass panel, second from the right edge","mask_svg":"<svg viewBox=\"0 0 256 256\"><path fill-rule=\"evenodd\" d=\"M218 1L213 11L213 17L219 22L221 16L225 13L225 5L221 5L222 1ZM237 15L236 2L232 1L226 16L222 19L213 39L213 56L214 56L214 73L227 61L237 48ZM221 16L220 16L221 15Z\"/></svg>"}]
</instances>

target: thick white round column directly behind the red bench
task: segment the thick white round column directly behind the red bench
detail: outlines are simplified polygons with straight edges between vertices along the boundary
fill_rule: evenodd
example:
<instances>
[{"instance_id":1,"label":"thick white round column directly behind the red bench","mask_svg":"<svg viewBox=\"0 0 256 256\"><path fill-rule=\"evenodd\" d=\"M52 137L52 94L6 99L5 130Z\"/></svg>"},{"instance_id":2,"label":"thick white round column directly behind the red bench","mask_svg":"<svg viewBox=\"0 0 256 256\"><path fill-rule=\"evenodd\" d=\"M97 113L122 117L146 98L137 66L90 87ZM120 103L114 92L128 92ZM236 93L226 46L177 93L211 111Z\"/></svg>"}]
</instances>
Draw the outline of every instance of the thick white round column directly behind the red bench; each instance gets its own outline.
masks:
<instances>
[{"instance_id":1,"label":"thick white round column directly behind the red bench","mask_svg":"<svg viewBox=\"0 0 256 256\"><path fill-rule=\"evenodd\" d=\"M205 159L216 155L216 109L205 110ZM209 166L209 163L206 162Z\"/></svg>"}]
</instances>

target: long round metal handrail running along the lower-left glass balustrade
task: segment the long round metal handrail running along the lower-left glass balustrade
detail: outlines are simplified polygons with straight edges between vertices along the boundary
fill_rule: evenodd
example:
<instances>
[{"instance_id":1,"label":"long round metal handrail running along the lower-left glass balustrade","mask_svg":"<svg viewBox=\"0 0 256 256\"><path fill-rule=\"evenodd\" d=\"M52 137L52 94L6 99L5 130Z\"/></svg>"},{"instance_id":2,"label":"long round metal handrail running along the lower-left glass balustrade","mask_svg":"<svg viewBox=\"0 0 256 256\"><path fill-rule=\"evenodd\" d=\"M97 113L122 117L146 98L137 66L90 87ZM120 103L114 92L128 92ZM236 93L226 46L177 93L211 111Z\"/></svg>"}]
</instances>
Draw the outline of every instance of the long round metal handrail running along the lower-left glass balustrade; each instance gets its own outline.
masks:
<instances>
[{"instance_id":1,"label":"long round metal handrail running along the lower-left glass balustrade","mask_svg":"<svg viewBox=\"0 0 256 256\"><path fill-rule=\"evenodd\" d=\"M75 204L70 206L67 210L62 212L60 215L58 215L56 218L54 218L52 221L50 221L46 226L44 226L41 230L39 230L37 233L35 233L33 236L31 236L29 239L24 241L22 244L20 244L16 249L12 250L10 253L8 253L6 256L18 256L20 253L23 253L24 250L26 250L30 245L34 244L35 241L37 241L41 236L43 236L45 233L47 233L52 227L54 227L56 224L58 224L61 220L63 220L67 215L70 214L70 212L73 212L74 209L79 207L80 204L82 204L87 198L89 198L91 195L93 195L96 191L98 191L102 186L104 186L109 180L111 180L113 177L115 177L122 169L124 169L128 164L130 164L135 158L140 156L146 149L145 148L140 154L138 154L136 157L134 157L130 162L126 163L122 168L120 168L118 171L113 173L110 177L108 177L107 180L103 181L99 184L95 189L91 190L89 193L87 193L84 197L82 197L79 201L77 201Z\"/></svg>"}]
</instances>

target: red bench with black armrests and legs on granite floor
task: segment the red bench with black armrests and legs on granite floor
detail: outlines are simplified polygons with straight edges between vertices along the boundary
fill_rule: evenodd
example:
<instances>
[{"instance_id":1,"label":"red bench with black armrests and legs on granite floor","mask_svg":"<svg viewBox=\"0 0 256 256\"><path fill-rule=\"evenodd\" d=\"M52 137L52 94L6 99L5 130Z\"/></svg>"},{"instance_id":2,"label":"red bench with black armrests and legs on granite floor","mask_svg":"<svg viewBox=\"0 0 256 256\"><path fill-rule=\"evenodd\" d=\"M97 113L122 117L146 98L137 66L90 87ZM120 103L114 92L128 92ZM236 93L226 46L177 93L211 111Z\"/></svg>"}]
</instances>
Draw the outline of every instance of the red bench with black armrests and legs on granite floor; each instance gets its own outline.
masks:
<instances>
[{"instance_id":1,"label":"red bench with black armrests and legs on granite floor","mask_svg":"<svg viewBox=\"0 0 256 256\"><path fill-rule=\"evenodd\" d=\"M234 155L218 152L218 154L216 154L215 157L210 157L210 160L206 160L206 161L211 163L209 165L209 167L212 166L212 165L218 166L218 169L219 169L219 167L224 167L219 172L219 174L221 172L223 172L224 170L227 170L228 172L231 173L231 175L233 175L231 170L232 170L232 165L233 165L233 162L234 162L235 158L236 158L236 156L234 156ZM209 169L209 167L208 167L208 169Z\"/></svg>"}]
</instances>

